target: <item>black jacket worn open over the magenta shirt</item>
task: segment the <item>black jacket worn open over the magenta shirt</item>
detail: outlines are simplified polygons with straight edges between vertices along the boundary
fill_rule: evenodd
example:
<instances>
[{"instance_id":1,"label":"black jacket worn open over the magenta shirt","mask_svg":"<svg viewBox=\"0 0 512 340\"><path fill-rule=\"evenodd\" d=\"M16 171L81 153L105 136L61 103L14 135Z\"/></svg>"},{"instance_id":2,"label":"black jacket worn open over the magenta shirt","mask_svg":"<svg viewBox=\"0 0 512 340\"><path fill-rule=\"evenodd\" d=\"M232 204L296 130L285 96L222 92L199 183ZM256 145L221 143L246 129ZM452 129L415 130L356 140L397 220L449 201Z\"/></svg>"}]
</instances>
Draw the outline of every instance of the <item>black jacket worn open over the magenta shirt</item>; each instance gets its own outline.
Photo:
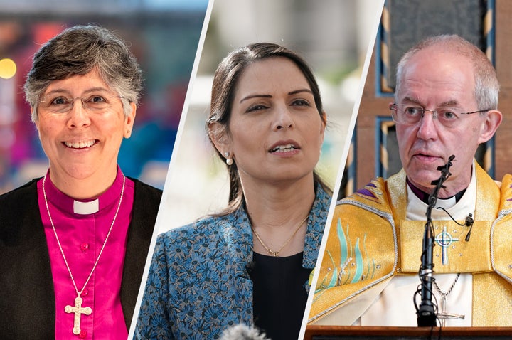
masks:
<instances>
[{"instance_id":1,"label":"black jacket worn open over the magenta shirt","mask_svg":"<svg viewBox=\"0 0 512 340\"><path fill-rule=\"evenodd\" d=\"M55 293L37 181L0 196L0 338L54 339ZM121 283L127 329L153 235L161 190L135 182Z\"/></svg>"}]
</instances>

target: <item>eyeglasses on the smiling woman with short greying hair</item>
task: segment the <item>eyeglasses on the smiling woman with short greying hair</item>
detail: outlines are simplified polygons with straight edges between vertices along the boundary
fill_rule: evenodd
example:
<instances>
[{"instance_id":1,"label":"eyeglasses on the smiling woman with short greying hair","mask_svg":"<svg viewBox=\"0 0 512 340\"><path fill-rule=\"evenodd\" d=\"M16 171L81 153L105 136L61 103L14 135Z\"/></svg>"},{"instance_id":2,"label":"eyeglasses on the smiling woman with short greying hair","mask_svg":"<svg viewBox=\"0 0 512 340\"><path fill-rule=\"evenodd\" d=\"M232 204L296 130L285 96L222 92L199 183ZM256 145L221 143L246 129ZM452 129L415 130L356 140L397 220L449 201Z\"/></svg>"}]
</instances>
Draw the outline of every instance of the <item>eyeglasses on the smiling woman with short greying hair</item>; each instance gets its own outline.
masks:
<instances>
[{"instance_id":1,"label":"eyeglasses on the smiling woman with short greying hair","mask_svg":"<svg viewBox=\"0 0 512 340\"><path fill-rule=\"evenodd\" d=\"M102 95L90 95L89 97L75 97L68 98L63 95L50 95L43 97L42 100L38 100L41 104L41 109L46 112L52 113L67 113L73 109L75 99L80 99L82 107L87 112L100 112L105 111L112 106L112 100L110 98L124 98L120 96L102 96Z\"/></svg>"}]
</instances>

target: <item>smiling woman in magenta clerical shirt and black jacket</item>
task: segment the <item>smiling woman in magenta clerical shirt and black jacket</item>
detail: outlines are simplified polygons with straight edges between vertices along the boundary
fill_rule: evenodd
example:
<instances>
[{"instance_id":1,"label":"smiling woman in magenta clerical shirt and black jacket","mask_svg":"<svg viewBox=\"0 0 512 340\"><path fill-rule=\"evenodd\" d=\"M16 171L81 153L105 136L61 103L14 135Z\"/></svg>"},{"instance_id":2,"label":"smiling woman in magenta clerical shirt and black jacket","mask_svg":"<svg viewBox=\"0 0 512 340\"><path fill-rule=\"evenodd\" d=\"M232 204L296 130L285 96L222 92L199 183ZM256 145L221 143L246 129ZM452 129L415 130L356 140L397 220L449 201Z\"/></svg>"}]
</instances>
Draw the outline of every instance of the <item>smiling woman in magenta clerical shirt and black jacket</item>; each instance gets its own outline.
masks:
<instances>
[{"instance_id":1,"label":"smiling woman in magenta clerical shirt and black jacket","mask_svg":"<svg viewBox=\"0 0 512 340\"><path fill-rule=\"evenodd\" d=\"M49 169L0 196L2 339L127 339L161 198L117 165L141 90L99 26L34 55L25 94Z\"/></svg>"}]
</instances>

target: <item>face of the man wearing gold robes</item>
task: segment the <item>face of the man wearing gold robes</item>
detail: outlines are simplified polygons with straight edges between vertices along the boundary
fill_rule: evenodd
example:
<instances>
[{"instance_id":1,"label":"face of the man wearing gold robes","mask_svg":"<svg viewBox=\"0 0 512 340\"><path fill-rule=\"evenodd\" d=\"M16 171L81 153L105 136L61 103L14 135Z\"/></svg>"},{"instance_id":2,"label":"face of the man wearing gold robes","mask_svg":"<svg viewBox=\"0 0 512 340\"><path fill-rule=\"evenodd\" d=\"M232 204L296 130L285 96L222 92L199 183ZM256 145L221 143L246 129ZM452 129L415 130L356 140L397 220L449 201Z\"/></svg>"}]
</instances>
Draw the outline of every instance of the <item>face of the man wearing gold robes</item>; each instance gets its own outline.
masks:
<instances>
[{"instance_id":1,"label":"face of the man wearing gold robes","mask_svg":"<svg viewBox=\"0 0 512 340\"><path fill-rule=\"evenodd\" d=\"M479 110L469 58L431 46L412 56L404 71L396 96L398 107L415 105L428 110L452 107L455 112ZM476 148L489 140L499 125L494 119L496 112L459 115L457 125L450 128L432 119L431 112L425 112L417 124L397 124L400 159L412 184L430 193L431 182L441 174L437 166L446 164L453 154L452 176L445 184L446 191L439 196L452 196L466 188L471 180Z\"/></svg>"}]
</instances>

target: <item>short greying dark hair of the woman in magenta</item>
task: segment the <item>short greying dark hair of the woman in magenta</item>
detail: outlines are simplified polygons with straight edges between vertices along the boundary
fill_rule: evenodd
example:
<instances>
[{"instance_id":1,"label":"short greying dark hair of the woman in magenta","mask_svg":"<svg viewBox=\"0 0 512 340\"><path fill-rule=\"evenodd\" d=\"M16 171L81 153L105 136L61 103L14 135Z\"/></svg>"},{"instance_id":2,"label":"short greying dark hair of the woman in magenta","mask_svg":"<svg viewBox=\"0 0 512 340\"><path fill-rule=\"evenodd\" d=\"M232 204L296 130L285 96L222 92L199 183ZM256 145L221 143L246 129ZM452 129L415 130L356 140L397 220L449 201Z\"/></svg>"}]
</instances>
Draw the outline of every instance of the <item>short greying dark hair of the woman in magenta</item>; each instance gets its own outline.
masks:
<instances>
[{"instance_id":1,"label":"short greying dark hair of the woman in magenta","mask_svg":"<svg viewBox=\"0 0 512 340\"><path fill-rule=\"evenodd\" d=\"M85 75L96 69L100 78L122 97L124 115L138 105L142 92L142 70L127 44L100 26L73 26L51 38L33 57L24 90L38 120L38 100L54 80Z\"/></svg>"}]
</instances>

